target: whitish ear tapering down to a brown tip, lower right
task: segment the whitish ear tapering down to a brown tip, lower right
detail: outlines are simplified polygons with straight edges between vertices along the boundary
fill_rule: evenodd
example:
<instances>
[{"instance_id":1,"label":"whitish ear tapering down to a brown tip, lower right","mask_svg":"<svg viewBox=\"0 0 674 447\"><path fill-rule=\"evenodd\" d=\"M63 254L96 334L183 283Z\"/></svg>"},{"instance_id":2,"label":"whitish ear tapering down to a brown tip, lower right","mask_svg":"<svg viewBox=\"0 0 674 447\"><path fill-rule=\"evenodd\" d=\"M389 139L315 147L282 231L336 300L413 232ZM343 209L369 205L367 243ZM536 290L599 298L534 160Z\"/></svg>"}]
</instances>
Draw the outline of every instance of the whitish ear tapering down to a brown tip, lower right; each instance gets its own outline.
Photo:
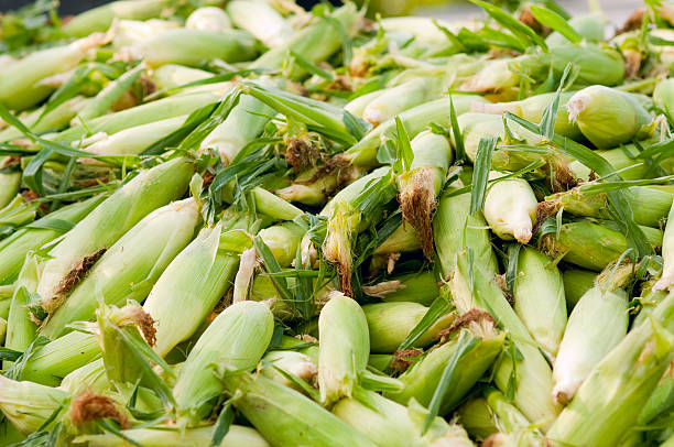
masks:
<instances>
[{"instance_id":1,"label":"whitish ear tapering down to a brown tip, lower right","mask_svg":"<svg viewBox=\"0 0 674 447\"><path fill-rule=\"evenodd\" d=\"M591 369L624 338L627 330L624 291L595 286L583 295L568 318L554 362L554 400L562 405L569 403Z\"/></svg>"}]
</instances>

